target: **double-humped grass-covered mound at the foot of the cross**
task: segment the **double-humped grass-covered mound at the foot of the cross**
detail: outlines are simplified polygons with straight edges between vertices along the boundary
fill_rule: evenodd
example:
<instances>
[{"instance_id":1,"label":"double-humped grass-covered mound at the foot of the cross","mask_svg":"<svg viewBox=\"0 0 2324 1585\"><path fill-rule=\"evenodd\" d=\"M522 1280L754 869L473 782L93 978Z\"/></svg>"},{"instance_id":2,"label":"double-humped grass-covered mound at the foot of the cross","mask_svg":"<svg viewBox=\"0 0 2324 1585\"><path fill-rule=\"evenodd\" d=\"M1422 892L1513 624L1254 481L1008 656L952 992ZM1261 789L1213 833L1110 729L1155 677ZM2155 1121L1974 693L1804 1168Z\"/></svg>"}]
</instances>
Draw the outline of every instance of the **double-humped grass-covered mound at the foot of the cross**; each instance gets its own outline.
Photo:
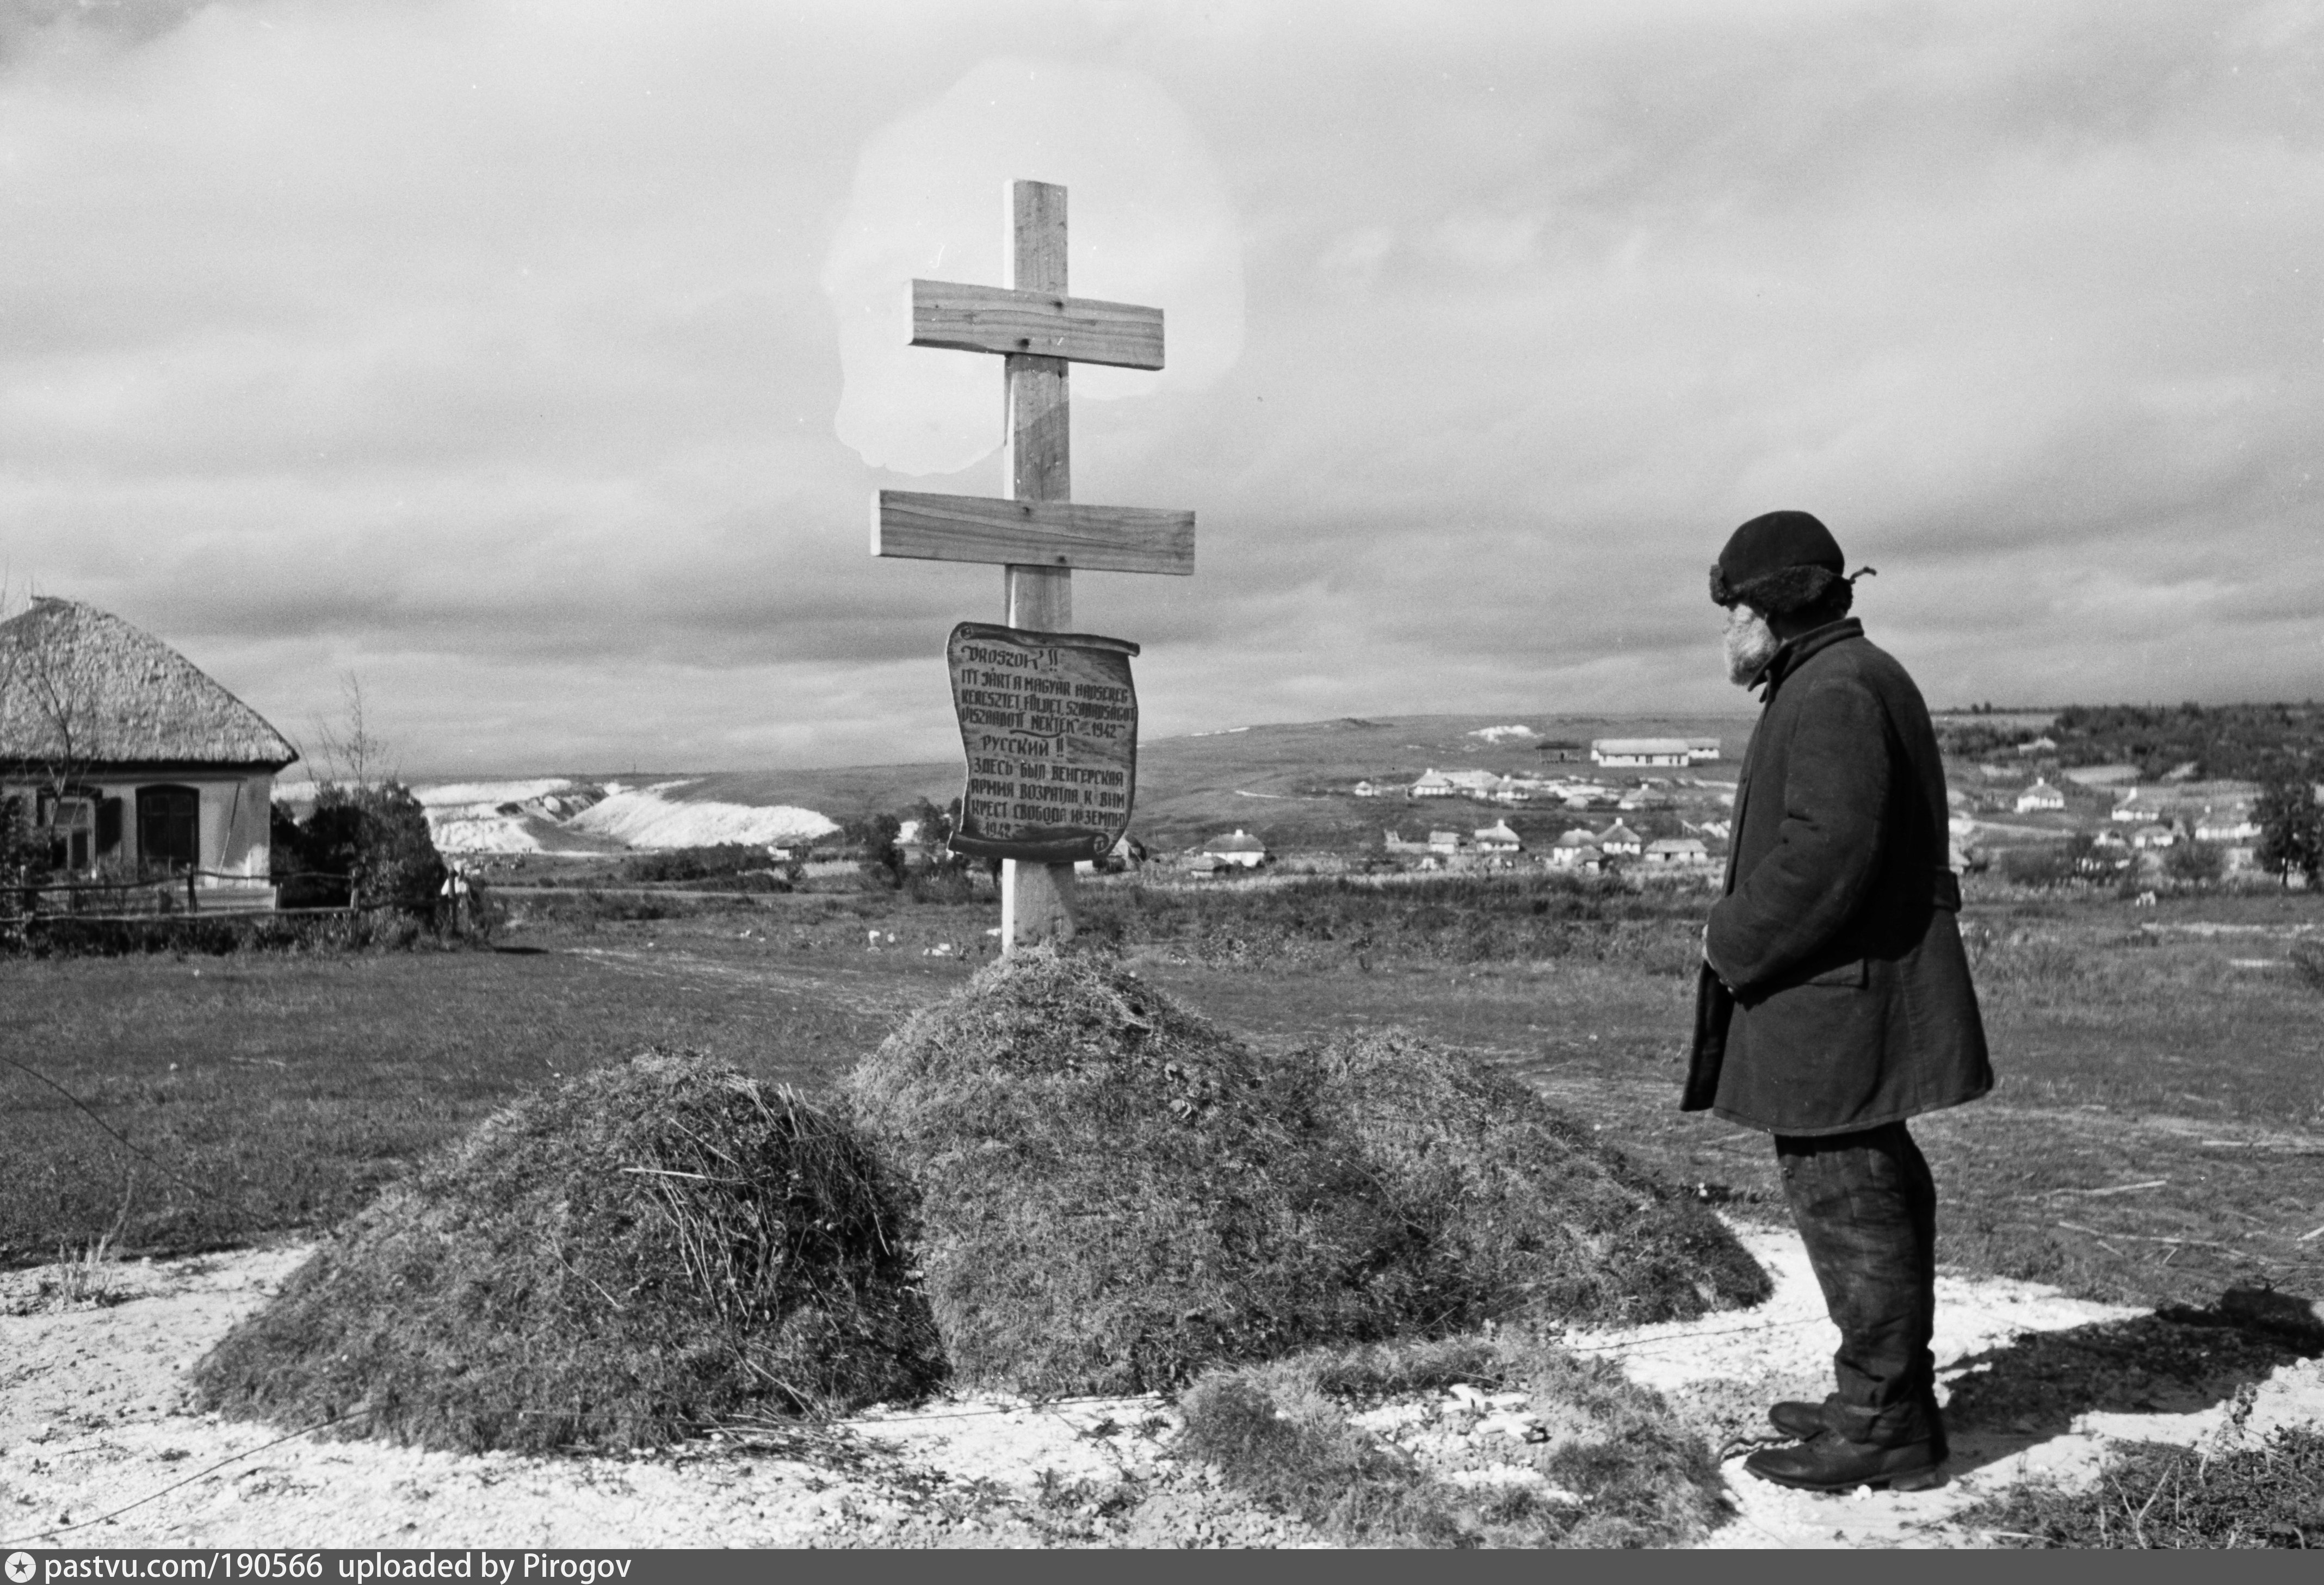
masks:
<instances>
[{"instance_id":1,"label":"double-humped grass-covered mound at the foot of the cross","mask_svg":"<svg viewBox=\"0 0 2324 1585\"><path fill-rule=\"evenodd\" d=\"M1457 1053L1260 1053L1088 958L988 967L848 1092L916 1190L969 1383L1153 1390L1315 1343L1766 1294L1708 1211Z\"/></svg>"}]
</instances>

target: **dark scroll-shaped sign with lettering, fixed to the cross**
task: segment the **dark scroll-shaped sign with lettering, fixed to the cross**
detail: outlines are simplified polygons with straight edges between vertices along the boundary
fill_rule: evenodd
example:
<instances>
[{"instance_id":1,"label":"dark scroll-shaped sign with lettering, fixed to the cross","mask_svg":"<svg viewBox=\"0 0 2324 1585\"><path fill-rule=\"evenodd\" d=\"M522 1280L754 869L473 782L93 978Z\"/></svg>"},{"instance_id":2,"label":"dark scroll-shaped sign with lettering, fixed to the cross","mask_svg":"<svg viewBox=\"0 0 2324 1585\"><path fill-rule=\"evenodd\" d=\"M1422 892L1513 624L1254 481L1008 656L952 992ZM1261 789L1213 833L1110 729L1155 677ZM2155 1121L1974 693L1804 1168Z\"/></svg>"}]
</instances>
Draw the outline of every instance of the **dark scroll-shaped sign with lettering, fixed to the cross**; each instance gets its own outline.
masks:
<instances>
[{"instance_id":1,"label":"dark scroll-shaped sign with lettering, fixed to the cross","mask_svg":"<svg viewBox=\"0 0 2324 1585\"><path fill-rule=\"evenodd\" d=\"M1092 632L953 627L944 658L969 755L955 853L1069 865L1113 851L1139 783L1136 653Z\"/></svg>"}]
</instances>

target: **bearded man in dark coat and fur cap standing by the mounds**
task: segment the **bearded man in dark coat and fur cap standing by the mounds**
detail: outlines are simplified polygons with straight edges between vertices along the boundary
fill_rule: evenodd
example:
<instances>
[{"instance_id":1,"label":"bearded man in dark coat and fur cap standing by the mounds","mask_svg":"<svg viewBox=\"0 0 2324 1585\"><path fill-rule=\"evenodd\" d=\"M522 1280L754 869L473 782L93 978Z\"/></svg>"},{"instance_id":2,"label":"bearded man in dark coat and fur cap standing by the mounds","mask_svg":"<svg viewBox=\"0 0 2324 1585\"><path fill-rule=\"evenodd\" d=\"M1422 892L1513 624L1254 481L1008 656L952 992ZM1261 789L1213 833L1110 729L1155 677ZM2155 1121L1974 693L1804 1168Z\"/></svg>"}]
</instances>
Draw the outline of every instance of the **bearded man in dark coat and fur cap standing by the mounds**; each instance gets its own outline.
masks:
<instances>
[{"instance_id":1,"label":"bearded man in dark coat and fur cap standing by the mounds","mask_svg":"<svg viewBox=\"0 0 2324 1585\"><path fill-rule=\"evenodd\" d=\"M1936 1183L1906 1118L1994 1085L1945 867L1945 772L1906 669L1848 616L1831 532L1771 511L1727 539L1727 676L1764 688L1727 888L1703 930L1683 1111L1776 1136L1783 1192L1841 1329L1838 1390L1776 1404L1764 1480L1943 1480ZM1864 574L1857 574L1864 576Z\"/></svg>"}]
</instances>

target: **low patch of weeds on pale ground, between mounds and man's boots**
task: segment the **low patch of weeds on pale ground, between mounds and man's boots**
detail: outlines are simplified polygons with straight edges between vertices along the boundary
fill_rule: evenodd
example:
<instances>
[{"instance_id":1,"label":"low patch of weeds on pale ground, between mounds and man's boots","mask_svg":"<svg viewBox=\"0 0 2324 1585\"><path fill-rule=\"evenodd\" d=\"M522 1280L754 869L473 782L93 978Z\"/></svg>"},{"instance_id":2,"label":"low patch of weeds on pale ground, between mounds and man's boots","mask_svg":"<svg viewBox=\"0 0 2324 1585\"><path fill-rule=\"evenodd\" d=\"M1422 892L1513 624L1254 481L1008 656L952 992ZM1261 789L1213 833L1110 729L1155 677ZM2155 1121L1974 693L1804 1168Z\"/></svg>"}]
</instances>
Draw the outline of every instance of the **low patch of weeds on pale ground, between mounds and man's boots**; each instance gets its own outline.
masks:
<instances>
[{"instance_id":1,"label":"low patch of weeds on pale ground, between mounds and man's boots","mask_svg":"<svg viewBox=\"0 0 2324 1585\"><path fill-rule=\"evenodd\" d=\"M1525 1399L1538 1439L1373 1434L1350 1415L1448 1387ZM1710 1448L1620 1367L1548 1341L1459 1336L1211 1371L1183 1457L1350 1545L1673 1545L1724 1515ZM1480 1446L1504 1448L1480 1455ZM1462 1483L1511 1469L1515 1478Z\"/></svg>"}]
</instances>

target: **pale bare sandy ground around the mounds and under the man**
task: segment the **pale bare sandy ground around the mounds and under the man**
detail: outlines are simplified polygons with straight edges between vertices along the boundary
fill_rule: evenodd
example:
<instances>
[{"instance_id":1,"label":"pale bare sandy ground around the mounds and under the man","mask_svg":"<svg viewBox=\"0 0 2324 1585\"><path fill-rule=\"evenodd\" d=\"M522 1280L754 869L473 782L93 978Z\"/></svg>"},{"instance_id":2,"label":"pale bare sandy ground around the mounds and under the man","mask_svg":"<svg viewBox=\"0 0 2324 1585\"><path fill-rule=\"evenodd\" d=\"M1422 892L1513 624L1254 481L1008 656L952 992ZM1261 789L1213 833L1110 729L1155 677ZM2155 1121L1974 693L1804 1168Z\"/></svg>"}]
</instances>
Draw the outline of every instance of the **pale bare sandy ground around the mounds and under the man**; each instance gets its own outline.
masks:
<instances>
[{"instance_id":1,"label":"pale bare sandy ground around the mounds and under the man","mask_svg":"<svg viewBox=\"0 0 2324 1585\"><path fill-rule=\"evenodd\" d=\"M1571 1339L1620 1360L1717 1441L1762 1432L1773 1397L1820 1397L1836 1341L1799 1241L1738 1234L1776 1274L1769 1304ZM1315 1543L1171 1460L1176 1420L1150 1397L944 1399L816 1436L567 1460L323 1441L186 1413L184 1371L302 1257L304 1246L281 1246L123 1267L114 1301L98 1306L65 1301L56 1271L0 1278L0 1543ZM1943 1278L1936 1353L1959 1422L1952 1485L1806 1497L1748 1478L1748 1448L1731 1448L1736 1518L1710 1545L1973 1545L1952 1518L2015 1480L2089 1478L2108 1441L2226 1434L2240 1380L2261 1383L2252 1434L2324 1418L2317 1360L2031 1283ZM1464 1436L1473 1464L1487 1429Z\"/></svg>"}]
</instances>

